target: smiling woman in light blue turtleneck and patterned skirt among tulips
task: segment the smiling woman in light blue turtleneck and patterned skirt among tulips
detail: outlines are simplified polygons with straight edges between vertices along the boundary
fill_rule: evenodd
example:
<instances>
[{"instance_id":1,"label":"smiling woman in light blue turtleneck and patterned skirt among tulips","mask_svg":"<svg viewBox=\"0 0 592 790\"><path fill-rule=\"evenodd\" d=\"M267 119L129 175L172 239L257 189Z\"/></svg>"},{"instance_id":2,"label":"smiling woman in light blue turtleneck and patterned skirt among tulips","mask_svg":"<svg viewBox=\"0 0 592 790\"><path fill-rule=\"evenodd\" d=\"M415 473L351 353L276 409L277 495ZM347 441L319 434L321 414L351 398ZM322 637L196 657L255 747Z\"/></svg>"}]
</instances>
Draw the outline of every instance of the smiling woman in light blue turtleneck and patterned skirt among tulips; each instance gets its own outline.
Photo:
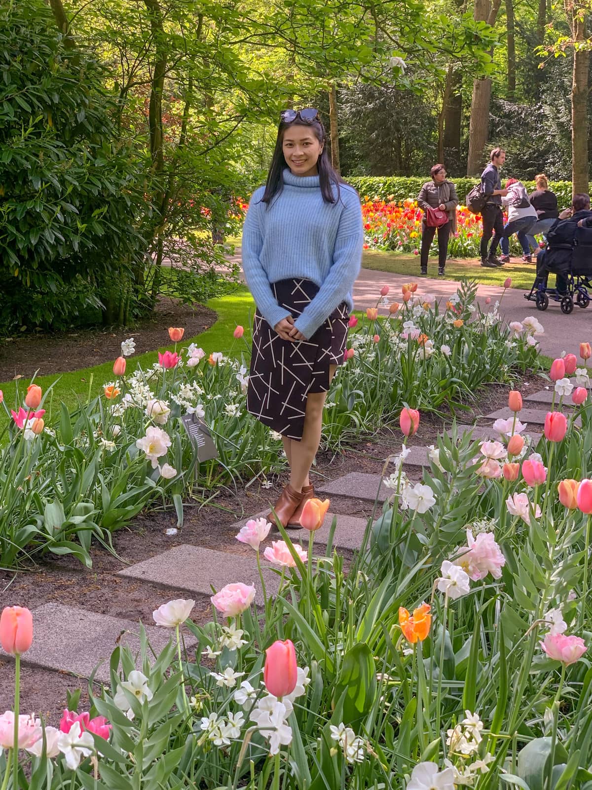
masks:
<instances>
[{"instance_id":1,"label":"smiling woman in light blue turtleneck and patterned skirt among tulips","mask_svg":"<svg viewBox=\"0 0 592 790\"><path fill-rule=\"evenodd\" d=\"M314 496L309 471L362 261L360 198L333 170L326 140L317 110L283 111L266 185L253 193L242 232L257 305L247 409L282 434L290 483L274 510L294 529Z\"/></svg>"}]
</instances>

